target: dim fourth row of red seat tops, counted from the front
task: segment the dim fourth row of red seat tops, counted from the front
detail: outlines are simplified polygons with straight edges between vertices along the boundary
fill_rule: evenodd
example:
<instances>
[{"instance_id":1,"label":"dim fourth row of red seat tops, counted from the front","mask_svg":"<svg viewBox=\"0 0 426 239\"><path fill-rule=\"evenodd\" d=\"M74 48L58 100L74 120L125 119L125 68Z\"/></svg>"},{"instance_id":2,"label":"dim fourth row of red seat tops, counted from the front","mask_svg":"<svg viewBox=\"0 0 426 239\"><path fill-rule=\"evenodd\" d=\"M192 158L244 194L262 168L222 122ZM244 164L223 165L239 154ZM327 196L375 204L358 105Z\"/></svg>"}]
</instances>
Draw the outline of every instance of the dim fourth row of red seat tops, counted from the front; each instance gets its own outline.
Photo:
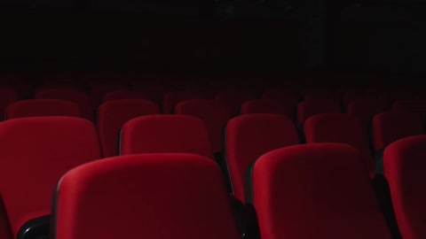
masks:
<instances>
[{"instance_id":1,"label":"dim fourth row of red seat tops, counted from the front","mask_svg":"<svg viewBox=\"0 0 426 239\"><path fill-rule=\"evenodd\" d=\"M7 89L3 89L7 91ZM1 96L5 98L0 100L0 106L4 108L5 105L16 101L17 98L21 99L17 94L12 92L0 92ZM260 91L261 94L257 94ZM345 93L344 93L345 92ZM172 89L170 87L147 87L145 89L138 89L138 91L131 91L125 89L121 85L106 85L106 86L93 86L86 94L82 89L73 88L58 88L58 87L43 87L37 89L35 93L36 98L40 99L64 99L72 101L79 105L83 116L86 119L92 120L94 114L91 109L96 109L99 104L109 100L115 99L147 99L154 101L157 104L162 104L163 113L171 113L176 104L188 99L205 99L217 98L219 102L226 104L232 115L236 115L241 109L241 104L256 98L279 100L281 104L285 104L281 111L288 114L294 114L297 102L299 100L318 100L327 99L334 100L337 107L343 104L346 109L348 104L354 99L377 98L380 104L385 109L391 107L394 101L401 99L419 99L422 94L417 94L414 89L411 90L393 90L384 92L368 91L367 89L345 89L343 92L336 93L329 89L305 89L300 92L298 89L289 88L267 88L267 89L214 89L214 88L188 88L185 90Z\"/></svg>"}]
</instances>

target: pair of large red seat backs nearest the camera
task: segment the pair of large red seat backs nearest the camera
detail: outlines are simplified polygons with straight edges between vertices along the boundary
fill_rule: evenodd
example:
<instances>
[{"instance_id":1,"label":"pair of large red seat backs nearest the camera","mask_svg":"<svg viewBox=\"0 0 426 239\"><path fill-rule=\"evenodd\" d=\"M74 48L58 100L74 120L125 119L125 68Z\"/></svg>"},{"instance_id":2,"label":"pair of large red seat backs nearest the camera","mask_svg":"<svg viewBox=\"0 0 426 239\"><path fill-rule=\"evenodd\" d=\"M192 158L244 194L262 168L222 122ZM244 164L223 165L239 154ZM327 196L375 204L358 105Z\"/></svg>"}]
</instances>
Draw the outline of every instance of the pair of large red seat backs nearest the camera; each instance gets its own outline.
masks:
<instances>
[{"instance_id":1,"label":"pair of large red seat backs nearest the camera","mask_svg":"<svg viewBox=\"0 0 426 239\"><path fill-rule=\"evenodd\" d=\"M77 167L59 183L55 238L241 238L211 162L153 154ZM258 158L246 182L261 238L390 239L364 170L357 150L343 144L298 145Z\"/></svg>"}]
</instances>

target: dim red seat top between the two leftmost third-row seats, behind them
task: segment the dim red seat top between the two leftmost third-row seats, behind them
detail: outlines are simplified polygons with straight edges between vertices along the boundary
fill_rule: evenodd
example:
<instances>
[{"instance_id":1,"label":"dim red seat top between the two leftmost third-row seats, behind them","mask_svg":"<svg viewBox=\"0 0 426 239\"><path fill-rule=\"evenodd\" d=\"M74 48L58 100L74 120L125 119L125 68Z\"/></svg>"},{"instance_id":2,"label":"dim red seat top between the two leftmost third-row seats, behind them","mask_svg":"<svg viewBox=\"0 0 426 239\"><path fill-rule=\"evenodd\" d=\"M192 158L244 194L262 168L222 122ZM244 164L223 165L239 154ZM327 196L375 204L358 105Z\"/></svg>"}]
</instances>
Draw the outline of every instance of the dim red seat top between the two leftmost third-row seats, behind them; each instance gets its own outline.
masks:
<instances>
[{"instance_id":1,"label":"dim red seat top between the two leftmost third-row seats, behind them","mask_svg":"<svg viewBox=\"0 0 426 239\"><path fill-rule=\"evenodd\" d=\"M78 89L41 89L36 92L36 99L61 99L77 104L83 118L93 120L93 111L89 97Z\"/></svg>"}]
</instances>

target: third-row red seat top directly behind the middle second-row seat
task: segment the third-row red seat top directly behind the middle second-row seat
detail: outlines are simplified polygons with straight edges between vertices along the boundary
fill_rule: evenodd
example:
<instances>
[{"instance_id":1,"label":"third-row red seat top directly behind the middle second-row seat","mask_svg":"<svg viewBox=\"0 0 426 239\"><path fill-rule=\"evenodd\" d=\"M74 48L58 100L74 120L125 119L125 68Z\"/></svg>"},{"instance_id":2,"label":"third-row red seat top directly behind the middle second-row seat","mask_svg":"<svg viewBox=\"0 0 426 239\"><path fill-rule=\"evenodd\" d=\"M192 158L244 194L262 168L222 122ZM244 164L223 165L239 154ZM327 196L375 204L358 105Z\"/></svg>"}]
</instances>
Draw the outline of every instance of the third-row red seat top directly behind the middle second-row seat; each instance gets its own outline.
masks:
<instances>
[{"instance_id":1,"label":"third-row red seat top directly behind the middle second-row seat","mask_svg":"<svg viewBox=\"0 0 426 239\"><path fill-rule=\"evenodd\" d=\"M249 100L241 105L241 114L248 113L272 113L288 116L295 119L296 103L282 102L272 99Z\"/></svg>"}]
</instances>

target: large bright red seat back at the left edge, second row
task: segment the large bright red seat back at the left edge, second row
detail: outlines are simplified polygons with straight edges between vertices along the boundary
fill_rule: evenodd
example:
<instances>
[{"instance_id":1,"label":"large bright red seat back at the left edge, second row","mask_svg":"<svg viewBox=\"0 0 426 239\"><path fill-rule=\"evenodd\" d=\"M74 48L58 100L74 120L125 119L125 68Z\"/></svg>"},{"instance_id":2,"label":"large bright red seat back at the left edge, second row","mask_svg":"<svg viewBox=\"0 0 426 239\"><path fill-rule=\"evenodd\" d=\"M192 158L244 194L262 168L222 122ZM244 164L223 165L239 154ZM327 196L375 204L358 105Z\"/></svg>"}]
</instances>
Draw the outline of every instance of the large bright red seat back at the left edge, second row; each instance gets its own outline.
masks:
<instances>
[{"instance_id":1,"label":"large bright red seat back at the left edge, second row","mask_svg":"<svg viewBox=\"0 0 426 239\"><path fill-rule=\"evenodd\" d=\"M63 173L100 158L95 127L74 117L4 121L0 151L0 189L13 235L29 216L50 212Z\"/></svg>"}]
</instances>

